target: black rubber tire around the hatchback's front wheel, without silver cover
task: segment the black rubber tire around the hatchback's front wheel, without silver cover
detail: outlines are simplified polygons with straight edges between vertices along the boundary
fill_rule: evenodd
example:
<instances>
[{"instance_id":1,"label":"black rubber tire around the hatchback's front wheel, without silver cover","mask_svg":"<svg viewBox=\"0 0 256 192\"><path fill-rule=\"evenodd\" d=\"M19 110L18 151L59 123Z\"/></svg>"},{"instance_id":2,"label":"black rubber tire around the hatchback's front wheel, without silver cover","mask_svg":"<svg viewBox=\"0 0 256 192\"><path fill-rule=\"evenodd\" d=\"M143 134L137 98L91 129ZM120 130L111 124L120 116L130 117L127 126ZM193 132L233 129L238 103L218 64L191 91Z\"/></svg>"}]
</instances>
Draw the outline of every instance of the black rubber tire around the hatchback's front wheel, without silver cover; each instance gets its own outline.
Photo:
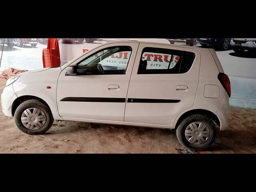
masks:
<instances>
[{"instance_id":1,"label":"black rubber tire around the hatchback's front wheel, without silver cover","mask_svg":"<svg viewBox=\"0 0 256 192\"><path fill-rule=\"evenodd\" d=\"M38 130L30 130L26 128L21 122L21 116L24 110L28 108L33 108L33 107L42 110L46 116L46 122L44 126L42 126L42 128ZM22 104L18 106L18 108L14 113L14 121L18 129L21 130L22 132L29 135L40 135L40 134L44 134L46 131L48 131L51 128L54 122L54 118L52 116L52 112L50 108L46 104L42 103L40 100L31 99L31 100L24 101Z\"/></svg>"}]
</instances>

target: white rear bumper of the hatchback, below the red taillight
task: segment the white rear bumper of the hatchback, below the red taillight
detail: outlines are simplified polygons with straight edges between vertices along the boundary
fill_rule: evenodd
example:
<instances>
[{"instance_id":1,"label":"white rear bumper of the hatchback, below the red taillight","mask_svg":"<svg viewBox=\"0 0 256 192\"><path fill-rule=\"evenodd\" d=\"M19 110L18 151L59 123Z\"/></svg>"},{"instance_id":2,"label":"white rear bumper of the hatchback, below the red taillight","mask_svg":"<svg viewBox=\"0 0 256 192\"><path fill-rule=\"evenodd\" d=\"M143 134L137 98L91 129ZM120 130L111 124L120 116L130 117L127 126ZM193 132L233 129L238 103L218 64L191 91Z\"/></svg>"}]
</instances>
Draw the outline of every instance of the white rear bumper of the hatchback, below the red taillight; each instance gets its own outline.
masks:
<instances>
[{"instance_id":1,"label":"white rear bumper of the hatchback, below the red taillight","mask_svg":"<svg viewBox=\"0 0 256 192\"><path fill-rule=\"evenodd\" d=\"M220 109L216 113L220 120L220 130L226 130L228 128L228 116L230 115L229 98L225 96L220 106Z\"/></svg>"}]
</instances>

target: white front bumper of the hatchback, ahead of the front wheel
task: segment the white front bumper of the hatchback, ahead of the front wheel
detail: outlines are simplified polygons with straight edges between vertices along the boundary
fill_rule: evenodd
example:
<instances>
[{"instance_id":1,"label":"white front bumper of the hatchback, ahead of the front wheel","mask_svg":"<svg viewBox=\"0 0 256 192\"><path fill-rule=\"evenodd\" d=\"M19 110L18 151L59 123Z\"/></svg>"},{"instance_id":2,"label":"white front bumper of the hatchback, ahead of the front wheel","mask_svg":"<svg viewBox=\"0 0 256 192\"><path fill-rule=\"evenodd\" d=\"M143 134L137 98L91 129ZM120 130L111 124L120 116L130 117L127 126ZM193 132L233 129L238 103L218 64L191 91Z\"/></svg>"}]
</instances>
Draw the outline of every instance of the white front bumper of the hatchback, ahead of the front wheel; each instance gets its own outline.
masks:
<instances>
[{"instance_id":1,"label":"white front bumper of the hatchback, ahead of the front wheel","mask_svg":"<svg viewBox=\"0 0 256 192\"><path fill-rule=\"evenodd\" d=\"M12 117L12 103L17 98L12 84L5 87L1 95L2 111L6 116Z\"/></svg>"}]
</instances>

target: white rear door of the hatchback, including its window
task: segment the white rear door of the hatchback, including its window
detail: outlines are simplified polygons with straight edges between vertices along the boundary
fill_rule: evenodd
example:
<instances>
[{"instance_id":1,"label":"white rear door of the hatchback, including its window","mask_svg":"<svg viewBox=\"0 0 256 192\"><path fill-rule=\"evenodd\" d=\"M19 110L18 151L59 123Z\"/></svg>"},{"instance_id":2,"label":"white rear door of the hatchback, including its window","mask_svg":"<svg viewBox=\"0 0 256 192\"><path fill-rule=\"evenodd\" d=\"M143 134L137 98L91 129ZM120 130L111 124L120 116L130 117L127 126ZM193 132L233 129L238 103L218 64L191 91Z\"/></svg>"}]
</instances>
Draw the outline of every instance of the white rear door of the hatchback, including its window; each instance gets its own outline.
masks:
<instances>
[{"instance_id":1,"label":"white rear door of the hatchback, including its window","mask_svg":"<svg viewBox=\"0 0 256 192\"><path fill-rule=\"evenodd\" d=\"M141 43L130 79L124 121L172 125L194 104L200 52Z\"/></svg>"}]
</instances>

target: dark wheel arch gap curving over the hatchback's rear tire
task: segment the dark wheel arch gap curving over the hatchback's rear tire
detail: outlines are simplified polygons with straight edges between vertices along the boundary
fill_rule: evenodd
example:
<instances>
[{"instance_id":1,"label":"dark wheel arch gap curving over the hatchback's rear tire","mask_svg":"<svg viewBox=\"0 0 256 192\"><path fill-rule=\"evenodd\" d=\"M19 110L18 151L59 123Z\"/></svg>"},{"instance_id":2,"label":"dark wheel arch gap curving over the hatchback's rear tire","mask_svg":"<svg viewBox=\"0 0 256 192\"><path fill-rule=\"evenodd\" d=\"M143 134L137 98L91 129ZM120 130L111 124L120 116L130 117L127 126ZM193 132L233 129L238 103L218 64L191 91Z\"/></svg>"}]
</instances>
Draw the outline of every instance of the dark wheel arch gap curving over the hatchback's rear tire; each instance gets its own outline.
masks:
<instances>
[{"instance_id":1,"label":"dark wheel arch gap curving over the hatchback's rear tire","mask_svg":"<svg viewBox=\"0 0 256 192\"><path fill-rule=\"evenodd\" d=\"M180 116L180 118L178 119L175 129L178 128L180 122L182 122L182 120L184 120L185 118L187 118L190 115L193 114L202 114L210 119L212 119L218 126L220 126L220 120L218 118L218 116L216 114L214 114L213 112L209 111L209 110L205 110L205 109L193 109L190 111L185 112L184 114L182 114L182 116Z\"/></svg>"}]
</instances>

